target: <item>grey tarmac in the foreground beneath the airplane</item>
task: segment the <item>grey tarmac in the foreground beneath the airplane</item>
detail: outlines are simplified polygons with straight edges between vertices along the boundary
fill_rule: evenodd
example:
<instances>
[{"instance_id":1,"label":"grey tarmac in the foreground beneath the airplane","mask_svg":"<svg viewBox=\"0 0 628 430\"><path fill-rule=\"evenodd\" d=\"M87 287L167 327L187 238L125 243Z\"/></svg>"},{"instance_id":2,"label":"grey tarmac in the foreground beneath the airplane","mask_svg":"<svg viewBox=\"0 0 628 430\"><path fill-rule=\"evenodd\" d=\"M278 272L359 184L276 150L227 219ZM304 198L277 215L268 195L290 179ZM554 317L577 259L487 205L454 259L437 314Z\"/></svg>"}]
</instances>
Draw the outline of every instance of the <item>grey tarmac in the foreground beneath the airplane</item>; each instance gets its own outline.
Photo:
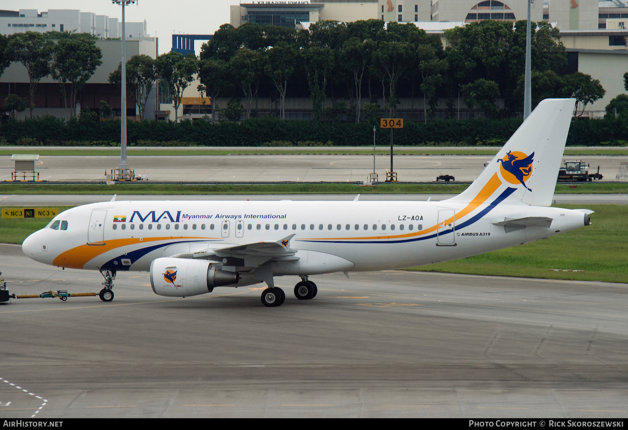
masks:
<instances>
[{"instance_id":1,"label":"grey tarmac in the foreground beneath the airplane","mask_svg":"<svg viewBox=\"0 0 628 430\"><path fill-rule=\"evenodd\" d=\"M15 293L98 291L0 245ZM294 279L293 279L294 278ZM0 418L625 417L628 285L408 271L0 305Z\"/></svg>"}]
</instances>

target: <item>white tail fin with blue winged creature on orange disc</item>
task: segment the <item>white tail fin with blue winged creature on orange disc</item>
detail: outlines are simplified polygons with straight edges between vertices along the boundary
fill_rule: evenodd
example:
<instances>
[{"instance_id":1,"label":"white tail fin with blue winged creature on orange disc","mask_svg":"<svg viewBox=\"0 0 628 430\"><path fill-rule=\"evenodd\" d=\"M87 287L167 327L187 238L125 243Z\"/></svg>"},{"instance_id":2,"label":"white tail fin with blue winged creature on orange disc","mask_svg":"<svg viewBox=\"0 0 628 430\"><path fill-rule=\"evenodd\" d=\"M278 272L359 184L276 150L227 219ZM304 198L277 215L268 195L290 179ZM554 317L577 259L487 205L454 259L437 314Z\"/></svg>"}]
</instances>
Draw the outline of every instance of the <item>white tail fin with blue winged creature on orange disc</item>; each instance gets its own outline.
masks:
<instances>
[{"instance_id":1,"label":"white tail fin with blue winged creature on orange disc","mask_svg":"<svg viewBox=\"0 0 628 430\"><path fill-rule=\"evenodd\" d=\"M571 124L573 98L543 100L484 172L451 202L499 201L549 206Z\"/></svg>"}]
</instances>

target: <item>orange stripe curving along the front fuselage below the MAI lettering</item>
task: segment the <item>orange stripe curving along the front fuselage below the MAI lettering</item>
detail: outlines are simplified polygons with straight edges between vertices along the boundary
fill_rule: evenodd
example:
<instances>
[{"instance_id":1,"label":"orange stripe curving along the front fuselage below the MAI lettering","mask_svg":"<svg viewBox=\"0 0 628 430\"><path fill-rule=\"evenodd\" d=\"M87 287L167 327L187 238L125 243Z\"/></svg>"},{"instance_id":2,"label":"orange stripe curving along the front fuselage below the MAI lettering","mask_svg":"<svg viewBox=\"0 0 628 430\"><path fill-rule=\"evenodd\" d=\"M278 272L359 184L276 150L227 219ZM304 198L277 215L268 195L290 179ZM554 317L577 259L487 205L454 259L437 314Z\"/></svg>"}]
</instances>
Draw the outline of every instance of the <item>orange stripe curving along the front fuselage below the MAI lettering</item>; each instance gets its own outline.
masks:
<instances>
[{"instance_id":1,"label":"orange stripe curving along the front fuselage below the MAI lettering","mask_svg":"<svg viewBox=\"0 0 628 430\"><path fill-rule=\"evenodd\" d=\"M96 258L100 254L104 254L112 249L121 248L122 246L143 244L156 241L165 241L171 239L202 239L202 240L215 240L215 238L172 238L171 236L165 238L139 238L134 239L111 239L104 242L96 242L91 244L84 244L77 246L76 248L68 249L67 251L58 254L53 260L52 264L58 267L69 267L73 269L82 269L87 261Z\"/></svg>"}]
</instances>

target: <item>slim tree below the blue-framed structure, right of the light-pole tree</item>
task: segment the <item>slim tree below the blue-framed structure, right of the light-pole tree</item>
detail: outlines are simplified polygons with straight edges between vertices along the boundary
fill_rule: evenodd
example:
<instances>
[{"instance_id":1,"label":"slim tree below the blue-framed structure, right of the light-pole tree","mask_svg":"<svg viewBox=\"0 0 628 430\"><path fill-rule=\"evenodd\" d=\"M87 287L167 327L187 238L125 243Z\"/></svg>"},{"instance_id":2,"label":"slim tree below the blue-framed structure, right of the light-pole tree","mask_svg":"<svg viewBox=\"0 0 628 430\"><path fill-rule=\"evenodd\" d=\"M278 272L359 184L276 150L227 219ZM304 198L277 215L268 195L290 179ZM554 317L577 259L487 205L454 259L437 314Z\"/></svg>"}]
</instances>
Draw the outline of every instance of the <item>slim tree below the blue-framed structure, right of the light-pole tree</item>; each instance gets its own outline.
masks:
<instances>
[{"instance_id":1,"label":"slim tree below the blue-framed structure, right of the light-pole tree","mask_svg":"<svg viewBox=\"0 0 628 430\"><path fill-rule=\"evenodd\" d=\"M161 79L168 82L172 93L172 105L175 108L175 122L185 88L190 86L198 71L198 60L193 53L183 54L170 51L157 57L156 67Z\"/></svg>"}]
</instances>

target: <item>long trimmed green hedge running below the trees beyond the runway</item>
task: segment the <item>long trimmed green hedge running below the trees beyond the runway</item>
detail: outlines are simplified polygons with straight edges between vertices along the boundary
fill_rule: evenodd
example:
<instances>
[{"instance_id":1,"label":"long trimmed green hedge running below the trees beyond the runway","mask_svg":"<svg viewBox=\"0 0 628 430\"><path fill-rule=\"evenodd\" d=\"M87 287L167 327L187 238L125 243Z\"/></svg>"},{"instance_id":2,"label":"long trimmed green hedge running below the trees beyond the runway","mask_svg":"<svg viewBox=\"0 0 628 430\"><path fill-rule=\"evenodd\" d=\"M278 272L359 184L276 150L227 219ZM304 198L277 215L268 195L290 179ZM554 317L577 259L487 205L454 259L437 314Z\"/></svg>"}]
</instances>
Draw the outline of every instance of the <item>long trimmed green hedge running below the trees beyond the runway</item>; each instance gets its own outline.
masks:
<instances>
[{"instance_id":1,"label":"long trimmed green hedge running below the trees beyond the runway","mask_svg":"<svg viewBox=\"0 0 628 430\"><path fill-rule=\"evenodd\" d=\"M394 130L395 145L475 146L504 144L521 125L520 118L502 120L435 120L428 123L404 121ZM578 119L570 128L567 144L578 146L625 145L628 123L619 118ZM180 123L144 121L127 123L127 142L138 146L264 146L282 145L369 146L373 142L370 123L280 121L251 118L234 122ZM118 120L70 120L42 117L8 121L0 125L0 144L9 145L117 145ZM376 128L376 142L387 145L390 131Z\"/></svg>"}]
</instances>

